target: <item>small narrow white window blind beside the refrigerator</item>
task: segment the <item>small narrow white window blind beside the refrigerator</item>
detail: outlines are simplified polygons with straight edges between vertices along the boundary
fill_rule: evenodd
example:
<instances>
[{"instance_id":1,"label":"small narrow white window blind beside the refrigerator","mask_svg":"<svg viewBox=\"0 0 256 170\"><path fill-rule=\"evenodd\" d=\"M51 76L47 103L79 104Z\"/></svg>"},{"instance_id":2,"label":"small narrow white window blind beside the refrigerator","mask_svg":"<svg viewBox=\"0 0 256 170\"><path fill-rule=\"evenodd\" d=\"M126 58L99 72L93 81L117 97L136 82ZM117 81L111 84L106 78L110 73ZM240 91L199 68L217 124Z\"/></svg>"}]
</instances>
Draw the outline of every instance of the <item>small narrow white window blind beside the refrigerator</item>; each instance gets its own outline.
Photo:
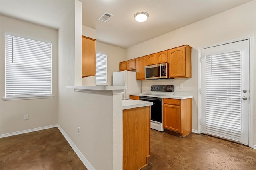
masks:
<instances>
[{"instance_id":1,"label":"small narrow white window blind beside the refrigerator","mask_svg":"<svg viewBox=\"0 0 256 170\"><path fill-rule=\"evenodd\" d=\"M96 53L96 84L107 84L107 55Z\"/></svg>"}]
</instances>

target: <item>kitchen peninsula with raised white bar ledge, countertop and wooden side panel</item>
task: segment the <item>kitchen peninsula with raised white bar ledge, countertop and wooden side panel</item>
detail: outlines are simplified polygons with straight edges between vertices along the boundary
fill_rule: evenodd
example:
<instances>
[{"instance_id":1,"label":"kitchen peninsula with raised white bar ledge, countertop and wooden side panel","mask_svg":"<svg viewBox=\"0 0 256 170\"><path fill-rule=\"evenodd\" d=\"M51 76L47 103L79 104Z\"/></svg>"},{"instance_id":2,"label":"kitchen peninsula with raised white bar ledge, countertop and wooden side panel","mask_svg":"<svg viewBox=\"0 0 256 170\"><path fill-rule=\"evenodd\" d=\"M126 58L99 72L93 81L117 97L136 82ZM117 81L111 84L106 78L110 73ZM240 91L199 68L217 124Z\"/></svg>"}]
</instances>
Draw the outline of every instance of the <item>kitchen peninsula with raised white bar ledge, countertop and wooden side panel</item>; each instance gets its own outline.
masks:
<instances>
[{"instance_id":1,"label":"kitchen peninsula with raised white bar ledge, countertop and wooden side panel","mask_svg":"<svg viewBox=\"0 0 256 170\"><path fill-rule=\"evenodd\" d=\"M122 100L126 86L67 86L67 88L102 97L112 96L113 169L138 170L148 164L152 102Z\"/></svg>"}]
</instances>

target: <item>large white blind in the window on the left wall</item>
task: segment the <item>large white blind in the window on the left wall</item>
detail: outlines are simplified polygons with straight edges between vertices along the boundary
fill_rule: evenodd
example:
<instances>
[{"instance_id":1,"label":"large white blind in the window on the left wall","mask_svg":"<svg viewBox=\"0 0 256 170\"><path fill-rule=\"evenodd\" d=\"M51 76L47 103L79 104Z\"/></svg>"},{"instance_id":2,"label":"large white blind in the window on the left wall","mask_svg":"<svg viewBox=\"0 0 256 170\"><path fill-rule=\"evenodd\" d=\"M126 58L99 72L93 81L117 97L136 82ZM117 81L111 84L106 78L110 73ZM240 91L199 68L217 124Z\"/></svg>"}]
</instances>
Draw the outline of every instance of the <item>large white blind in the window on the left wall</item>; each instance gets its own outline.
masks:
<instances>
[{"instance_id":1,"label":"large white blind in the window on the left wall","mask_svg":"<svg viewBox=\"0 0 256 170\"><path fill-rule=\"evenodd\" d=\"M6 97L52 94L52 44L6 35Z\"/></svg>"}]
</instances>

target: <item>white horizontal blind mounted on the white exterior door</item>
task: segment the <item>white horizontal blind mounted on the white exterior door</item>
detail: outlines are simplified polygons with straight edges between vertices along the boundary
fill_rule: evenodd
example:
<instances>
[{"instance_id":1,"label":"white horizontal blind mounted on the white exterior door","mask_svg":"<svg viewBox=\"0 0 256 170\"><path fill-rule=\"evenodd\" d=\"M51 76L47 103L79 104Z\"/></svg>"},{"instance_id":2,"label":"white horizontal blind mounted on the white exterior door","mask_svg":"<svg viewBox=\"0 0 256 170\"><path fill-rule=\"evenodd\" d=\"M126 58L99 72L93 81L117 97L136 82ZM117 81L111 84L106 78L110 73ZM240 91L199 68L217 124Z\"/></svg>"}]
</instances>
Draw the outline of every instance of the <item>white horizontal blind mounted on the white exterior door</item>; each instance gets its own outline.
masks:
<instances>
[{"instance_id":1,"label":"white horizontal blind mounted on the white exterior door","mask_svg":"<svg viewBox=\"0 0 256 170\"><path fill-rule=\"evenodd\" d=\"M241 51L206 56L206 133L241 141Z\"/></svg>"}]
</instances>

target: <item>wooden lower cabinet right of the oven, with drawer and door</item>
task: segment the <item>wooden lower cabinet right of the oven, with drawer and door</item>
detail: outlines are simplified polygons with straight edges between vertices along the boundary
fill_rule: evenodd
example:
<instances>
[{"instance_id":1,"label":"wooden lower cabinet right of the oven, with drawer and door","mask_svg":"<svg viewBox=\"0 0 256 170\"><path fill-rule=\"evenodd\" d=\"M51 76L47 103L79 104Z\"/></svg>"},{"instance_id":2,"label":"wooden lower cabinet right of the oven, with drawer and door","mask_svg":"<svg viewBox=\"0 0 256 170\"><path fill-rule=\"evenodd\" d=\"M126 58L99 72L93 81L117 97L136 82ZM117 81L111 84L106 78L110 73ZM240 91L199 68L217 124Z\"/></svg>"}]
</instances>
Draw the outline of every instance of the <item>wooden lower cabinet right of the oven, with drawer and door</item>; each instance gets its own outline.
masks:
<instances>
[{"instance_id":1,"label":"wooden lower cabinet right of the oven, with drawer and door","mask_svg":"<svg viewBox=\"0 0 256 170\"><path fill-rule=\"evenodd\" d=\"M192 132L192 98L163 99L163 126L182 137Z\"/></svg>"}]
</instances>

